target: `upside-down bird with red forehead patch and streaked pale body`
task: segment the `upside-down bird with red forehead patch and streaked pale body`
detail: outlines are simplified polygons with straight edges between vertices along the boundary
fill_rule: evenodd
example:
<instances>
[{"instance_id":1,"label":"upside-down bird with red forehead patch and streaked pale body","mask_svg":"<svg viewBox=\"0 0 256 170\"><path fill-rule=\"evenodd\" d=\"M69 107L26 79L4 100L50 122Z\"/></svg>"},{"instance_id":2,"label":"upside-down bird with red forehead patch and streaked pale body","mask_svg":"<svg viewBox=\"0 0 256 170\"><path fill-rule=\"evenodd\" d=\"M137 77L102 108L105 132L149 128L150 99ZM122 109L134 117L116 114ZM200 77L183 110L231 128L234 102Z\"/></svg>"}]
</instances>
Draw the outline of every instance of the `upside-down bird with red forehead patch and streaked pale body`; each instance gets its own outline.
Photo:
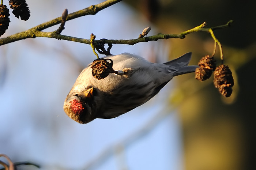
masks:
<instances>
[{"instance_id":1,"label":"upside-down bird with red forehead patch and streaked pale body","mask_svg":"<svg viewBox=\"0 0 256 170\"><path fill-rule=\"evenodd\" d=\"M195 72L198 66L188 66L191 56L189 52L163 64L131 53L105 56L124 75L111 73L98 80L89 64L76 79L63 109L80 124L118 117L153 98L174 76Z\"/></svg>"}]
</instances>

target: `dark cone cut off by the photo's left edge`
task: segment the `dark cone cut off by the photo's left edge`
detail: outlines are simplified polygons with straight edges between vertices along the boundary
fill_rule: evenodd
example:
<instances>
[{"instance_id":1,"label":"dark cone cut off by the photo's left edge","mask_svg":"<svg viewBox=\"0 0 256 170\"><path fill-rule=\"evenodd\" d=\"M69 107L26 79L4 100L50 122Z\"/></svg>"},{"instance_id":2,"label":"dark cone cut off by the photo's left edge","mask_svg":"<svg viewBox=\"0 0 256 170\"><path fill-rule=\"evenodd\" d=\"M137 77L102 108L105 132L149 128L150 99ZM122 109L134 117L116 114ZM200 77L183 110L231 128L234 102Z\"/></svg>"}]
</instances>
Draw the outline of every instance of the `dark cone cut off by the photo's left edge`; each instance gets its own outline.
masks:
<instances>
[{"instance_id":1,"label":"dark cone cut off by the photo's left edge","mask_svg":"<svg viewBox=\"0 0 256 170\"><path fill-rule=\"evenodd\" d=\"M8 29L10 19L9 10L4 4L0 4L0 36Z\"/></svg>"}]
</instances>

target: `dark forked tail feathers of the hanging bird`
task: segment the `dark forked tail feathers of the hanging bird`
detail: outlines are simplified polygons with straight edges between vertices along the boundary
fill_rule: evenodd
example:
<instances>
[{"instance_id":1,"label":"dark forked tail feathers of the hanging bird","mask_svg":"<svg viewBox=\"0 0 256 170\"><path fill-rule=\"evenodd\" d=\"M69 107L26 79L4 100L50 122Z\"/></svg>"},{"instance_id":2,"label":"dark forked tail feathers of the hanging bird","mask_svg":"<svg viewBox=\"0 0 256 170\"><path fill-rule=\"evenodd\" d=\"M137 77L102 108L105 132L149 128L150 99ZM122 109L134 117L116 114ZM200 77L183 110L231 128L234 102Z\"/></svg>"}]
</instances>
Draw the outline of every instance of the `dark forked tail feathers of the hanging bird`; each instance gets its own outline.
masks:
<instances>
[{"instance_id":1,"label":"dark forked tail feathers of the hanging bird","mask_svg":"<svg viewBox=\"0 0 256 170\"><path fill-rule=\"evenodd\" d=\"M163 64L178 68L178 70L173 73L174 76L195 72L198 66L196 65L188 66L189 61L191 60L191 57L192 57L192 53L189 52L172 61L168 61L167 63L163 63Z\"/></svg>"}]
</instances>

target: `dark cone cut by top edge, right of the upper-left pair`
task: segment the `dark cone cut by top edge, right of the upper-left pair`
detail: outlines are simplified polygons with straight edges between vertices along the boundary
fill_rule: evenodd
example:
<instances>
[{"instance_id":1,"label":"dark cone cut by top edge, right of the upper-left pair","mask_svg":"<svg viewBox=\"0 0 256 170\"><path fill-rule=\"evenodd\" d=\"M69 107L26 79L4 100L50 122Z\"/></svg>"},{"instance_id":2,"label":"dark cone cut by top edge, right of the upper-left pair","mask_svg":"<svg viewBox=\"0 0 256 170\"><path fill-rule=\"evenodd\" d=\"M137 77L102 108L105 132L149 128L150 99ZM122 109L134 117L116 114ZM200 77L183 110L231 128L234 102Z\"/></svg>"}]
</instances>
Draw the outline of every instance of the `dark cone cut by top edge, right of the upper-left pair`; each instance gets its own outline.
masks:
<instances>
[{"instance_id":1,"label":"dark cone cut by top edge, right of the upper-left pair","mask_svg":"<svg viewBox=\"0 0 256 170\"><path fill-rule=\"evenodd\" d=\"M29 7L26 0L9 0L10 8L13 9L12 14L22 20L28 20L30 17Z\"/></svg>"}]
</instances>

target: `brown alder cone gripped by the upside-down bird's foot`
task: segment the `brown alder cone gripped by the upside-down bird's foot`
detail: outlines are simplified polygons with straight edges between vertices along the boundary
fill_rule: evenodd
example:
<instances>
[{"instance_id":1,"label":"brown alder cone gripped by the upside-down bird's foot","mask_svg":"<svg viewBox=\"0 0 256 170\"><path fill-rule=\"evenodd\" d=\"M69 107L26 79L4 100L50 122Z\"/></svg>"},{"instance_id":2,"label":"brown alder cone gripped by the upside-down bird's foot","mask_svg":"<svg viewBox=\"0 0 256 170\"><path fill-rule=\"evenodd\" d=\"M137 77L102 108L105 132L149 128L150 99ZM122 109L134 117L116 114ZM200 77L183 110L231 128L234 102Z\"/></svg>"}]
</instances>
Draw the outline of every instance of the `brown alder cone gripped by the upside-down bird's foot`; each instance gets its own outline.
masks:
<instances>
[{"instance_id":1,"label":"brown alder cone gripped by the upside-down bird's foot","mask_svg":"<svg viewBox=\"0 0 256 170\"><path fill-rule=\"evenodd\" d=\"M91 64L91 73L96 79L104 79L113 71L113 61L110 60L111 63L109 63L107 60L110 59L99 58L94 60L93 64Z\"/></svg>"}]
</instances>

